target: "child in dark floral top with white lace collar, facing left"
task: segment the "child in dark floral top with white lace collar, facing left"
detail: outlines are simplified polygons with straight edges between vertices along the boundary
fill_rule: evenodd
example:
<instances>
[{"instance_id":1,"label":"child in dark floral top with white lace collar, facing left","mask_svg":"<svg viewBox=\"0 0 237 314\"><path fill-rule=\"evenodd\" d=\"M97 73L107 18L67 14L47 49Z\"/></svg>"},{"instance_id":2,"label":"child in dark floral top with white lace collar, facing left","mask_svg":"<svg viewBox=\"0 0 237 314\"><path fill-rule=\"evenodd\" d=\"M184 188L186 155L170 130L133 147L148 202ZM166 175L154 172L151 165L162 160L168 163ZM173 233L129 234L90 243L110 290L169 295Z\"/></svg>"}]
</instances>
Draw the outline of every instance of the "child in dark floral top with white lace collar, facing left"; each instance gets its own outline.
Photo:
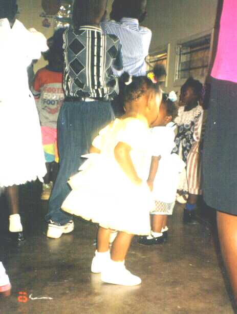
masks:
<instances>
[{"instance_id":1,"label":"child in dark floral top with white lace collar, facing left","mask_svg":"<svg viewBox=\"0 0 237 314\"><path fill-rule=\"evenodd\" d=\"M175 122L178 125L176 148L173 152L182 156L186 169L180 176L177 201L188 195L184 208L184 223L195 224L198 195L201 191L200 143L203 135L205 112L200 105L202 83L192 77L181 87L180 108ZM182 201L183 202L183 201Z\"/></svg>"}]
</instances>

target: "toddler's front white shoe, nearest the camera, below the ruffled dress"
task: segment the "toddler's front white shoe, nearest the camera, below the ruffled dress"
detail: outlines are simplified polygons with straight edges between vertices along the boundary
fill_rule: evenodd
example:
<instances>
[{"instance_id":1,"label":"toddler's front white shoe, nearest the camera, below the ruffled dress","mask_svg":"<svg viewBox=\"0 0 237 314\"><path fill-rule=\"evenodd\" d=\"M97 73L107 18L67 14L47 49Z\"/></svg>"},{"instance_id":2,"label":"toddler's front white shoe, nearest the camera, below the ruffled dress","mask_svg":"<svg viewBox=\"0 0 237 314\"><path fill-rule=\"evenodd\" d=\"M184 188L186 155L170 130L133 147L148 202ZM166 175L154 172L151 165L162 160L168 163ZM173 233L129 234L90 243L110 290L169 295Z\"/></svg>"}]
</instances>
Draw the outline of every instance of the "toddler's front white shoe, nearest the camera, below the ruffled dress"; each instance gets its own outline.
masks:
<instances>
[{"instance_id":1,"label":"toddler's front white shoe, nearest the camera, below the ruffled dress","mask_svg":"<svg viewBox=\"0 0 237 314\"><path fill-rule=\"evenodd\" d=\"M121 286L136 286L141 283L141 278L131 274L123 262L114 262L112 260L108 267L101 272L101 280Z\"/></svg>"}]
</instances>

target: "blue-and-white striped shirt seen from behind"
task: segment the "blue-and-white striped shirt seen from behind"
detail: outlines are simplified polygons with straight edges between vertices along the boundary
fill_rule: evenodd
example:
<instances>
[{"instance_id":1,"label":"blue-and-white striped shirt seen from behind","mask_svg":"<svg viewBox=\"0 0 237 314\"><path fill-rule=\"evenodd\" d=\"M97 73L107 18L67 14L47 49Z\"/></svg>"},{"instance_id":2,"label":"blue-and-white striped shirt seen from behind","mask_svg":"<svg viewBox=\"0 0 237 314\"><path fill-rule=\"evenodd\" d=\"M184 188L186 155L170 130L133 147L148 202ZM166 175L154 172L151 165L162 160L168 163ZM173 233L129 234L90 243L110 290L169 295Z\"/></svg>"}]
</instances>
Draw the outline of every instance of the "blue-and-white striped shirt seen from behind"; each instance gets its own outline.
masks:
<instances>
[{"instance_id":1,"label":"blue-and-white striped shirt seen from behind","mask_svg":"<svg viewBox=\"0 0 237 314\"><path fill-rule=\"evenodd\" d=\"M146 74L145 57L148 55L152 31L139 26L138 19L123 17L120 22L106 20L101 23L106 34L113 34L119 38L122 45L123 70L113 68L114 75L119 77L123 72L141 76Z\"/></svg>"}]
</instances>

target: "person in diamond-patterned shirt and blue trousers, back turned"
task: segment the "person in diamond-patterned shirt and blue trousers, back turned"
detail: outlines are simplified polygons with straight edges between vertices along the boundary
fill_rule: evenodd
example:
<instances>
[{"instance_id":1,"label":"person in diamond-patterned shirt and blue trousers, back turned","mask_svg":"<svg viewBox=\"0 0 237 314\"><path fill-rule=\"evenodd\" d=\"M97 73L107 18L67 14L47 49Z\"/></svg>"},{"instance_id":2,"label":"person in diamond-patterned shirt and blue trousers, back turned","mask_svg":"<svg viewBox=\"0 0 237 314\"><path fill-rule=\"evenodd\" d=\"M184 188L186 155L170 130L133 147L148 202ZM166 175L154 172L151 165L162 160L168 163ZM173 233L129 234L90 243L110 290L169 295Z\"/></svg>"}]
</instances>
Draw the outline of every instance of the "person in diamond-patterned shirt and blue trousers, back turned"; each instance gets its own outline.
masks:
<instances>
[{"instance_id":1,"label":"person in diamond-patterned shirt and blue trousers, back turned","mask_svg":"<svg viewBox=\"0 0 237 314\"><path fill-rule=\"evenodd\" d=\"M49 238L73 231L72 215L61 211L70 193L68 179L78 172L84 161L80 156L89 152L98 132L114 119L110 100L118 94L118 81L111 68L120 70L122 63L118 38L102 34L100 27L106 3L74 1L73 25L63 34L66 98L57 125L59 172L46 215Z\"/></svg>"}]
</instances>

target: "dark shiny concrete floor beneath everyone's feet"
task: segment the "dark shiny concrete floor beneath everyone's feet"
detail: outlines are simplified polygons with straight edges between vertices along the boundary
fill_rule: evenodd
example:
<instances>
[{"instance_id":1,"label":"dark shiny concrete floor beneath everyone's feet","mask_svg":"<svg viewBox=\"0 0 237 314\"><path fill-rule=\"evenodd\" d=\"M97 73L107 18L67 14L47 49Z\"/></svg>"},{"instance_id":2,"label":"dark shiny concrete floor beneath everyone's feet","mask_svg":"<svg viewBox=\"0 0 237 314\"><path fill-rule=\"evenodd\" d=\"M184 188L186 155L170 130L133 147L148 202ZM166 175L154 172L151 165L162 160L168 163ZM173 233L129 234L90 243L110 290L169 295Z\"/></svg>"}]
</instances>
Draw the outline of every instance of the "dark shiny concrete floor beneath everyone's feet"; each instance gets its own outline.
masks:
<instances>
[{"instance_id":1,"label":"dark shiny concrete floor beneath everyone's feet","mask_svg":"<svg viewBox=\"0 0 237 314\"><path fill-rule=\"evenodd\" d=\"M231 314L228 280L220 259L214 224L184 226L182 206L169 220L169 240L140 246L134 239L126 266L142 278L137 287L102 284L90 273L96 228L75 218L75 230L48 239L40 202L40 184L21 188L27 241L7 241L4 197L0 199L0 253L12 283L12 294L0 298L1 314ZM212 222L204 211L202 219ZM2 257L3 259L3 257ZM36 298L52 299L36 299Z\"/></svg>"}]
</instances>

